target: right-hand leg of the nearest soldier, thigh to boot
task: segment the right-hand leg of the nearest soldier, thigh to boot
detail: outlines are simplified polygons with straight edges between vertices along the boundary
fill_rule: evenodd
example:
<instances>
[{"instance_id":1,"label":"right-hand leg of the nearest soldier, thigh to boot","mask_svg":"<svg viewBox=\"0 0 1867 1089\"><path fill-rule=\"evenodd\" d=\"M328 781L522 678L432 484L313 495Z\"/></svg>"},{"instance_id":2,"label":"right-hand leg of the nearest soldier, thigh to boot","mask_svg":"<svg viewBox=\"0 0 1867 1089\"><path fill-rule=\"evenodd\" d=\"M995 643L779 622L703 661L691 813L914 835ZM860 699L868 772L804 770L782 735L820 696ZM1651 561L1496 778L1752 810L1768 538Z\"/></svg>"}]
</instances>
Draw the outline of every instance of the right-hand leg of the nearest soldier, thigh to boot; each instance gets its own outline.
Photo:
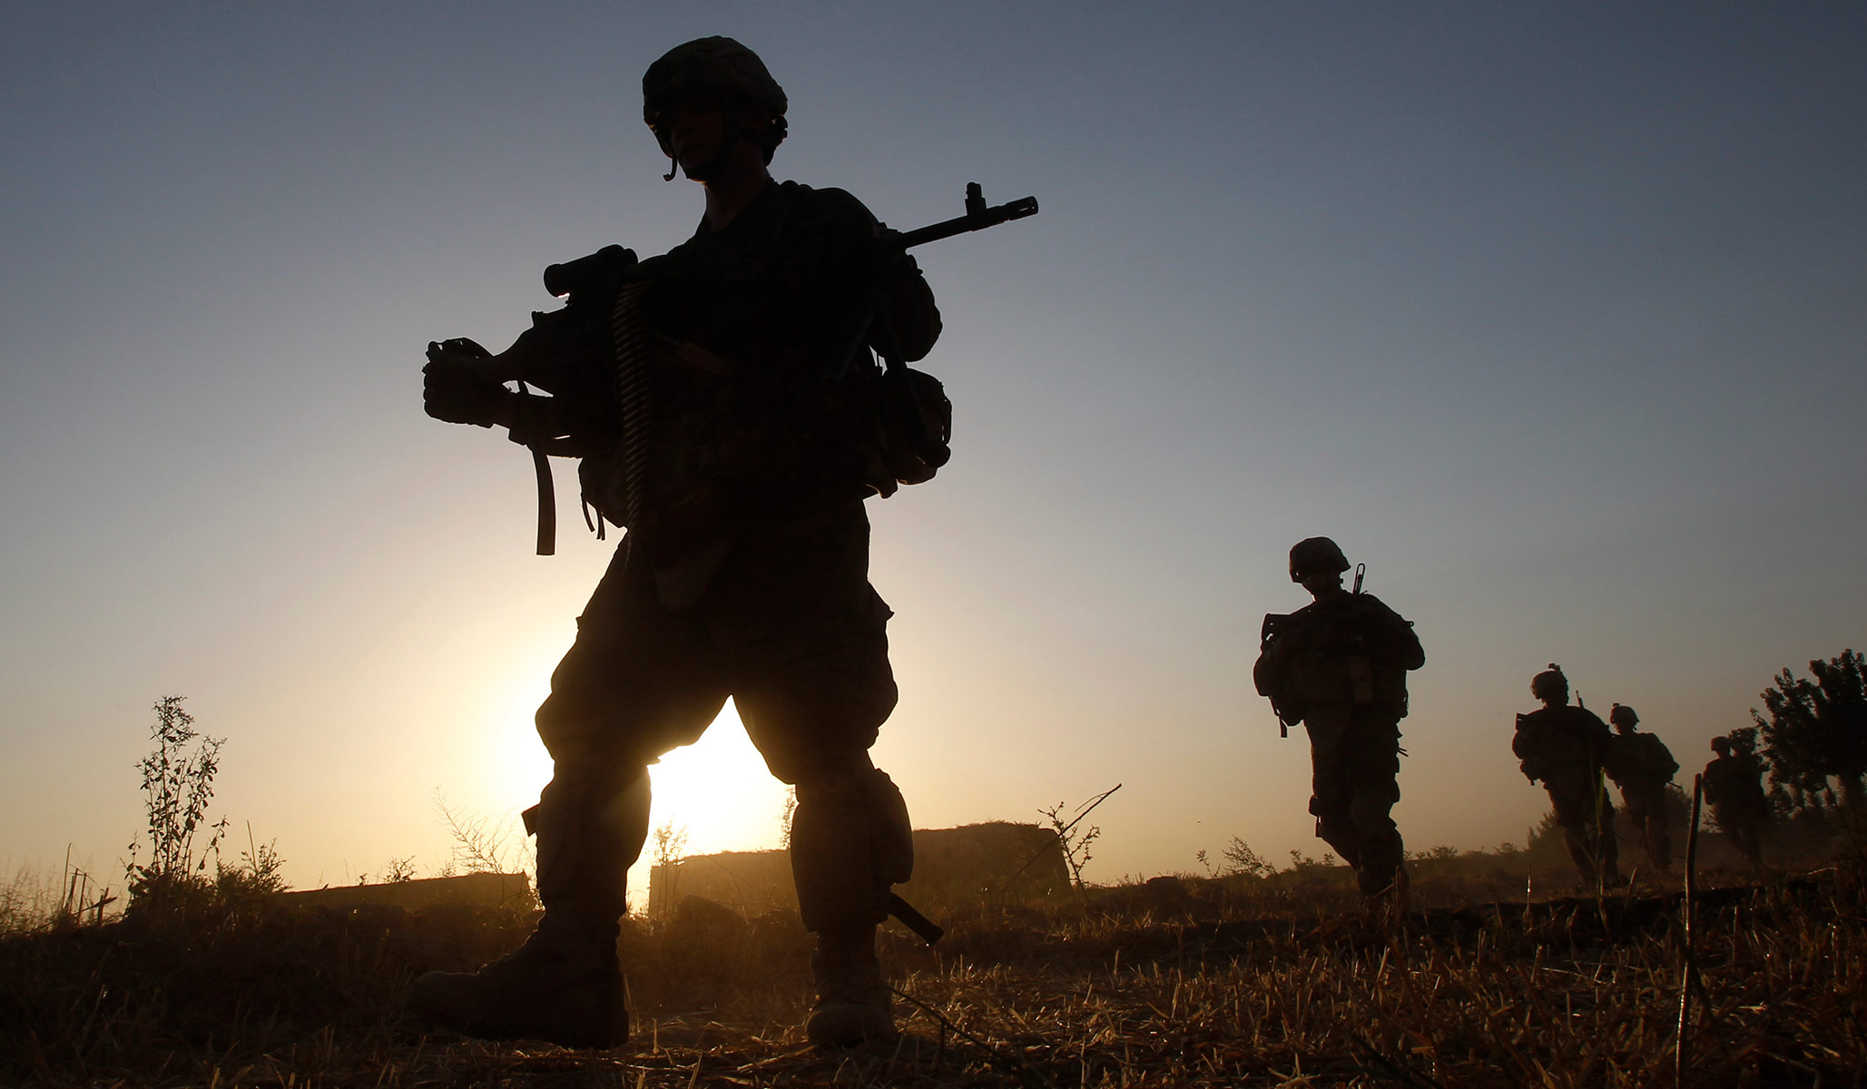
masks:
<instances>
[{"instance_id":1,"label":"right-hand leg of the nearest soldier, thigh to boot","mask_svg":"<svg viewBox=\"0 0 1867 1089\"><path fill-rule=\"evenodd\" d=\"M913 872L913 837L900 790L868 758L896 687L861 504L762 527L721 579L737 588L713 629L739 717L773 775L797 786L792 876L818 938L808 1039L892 1040L876 926L891 885Z\"/></svg>"}]
</instances>

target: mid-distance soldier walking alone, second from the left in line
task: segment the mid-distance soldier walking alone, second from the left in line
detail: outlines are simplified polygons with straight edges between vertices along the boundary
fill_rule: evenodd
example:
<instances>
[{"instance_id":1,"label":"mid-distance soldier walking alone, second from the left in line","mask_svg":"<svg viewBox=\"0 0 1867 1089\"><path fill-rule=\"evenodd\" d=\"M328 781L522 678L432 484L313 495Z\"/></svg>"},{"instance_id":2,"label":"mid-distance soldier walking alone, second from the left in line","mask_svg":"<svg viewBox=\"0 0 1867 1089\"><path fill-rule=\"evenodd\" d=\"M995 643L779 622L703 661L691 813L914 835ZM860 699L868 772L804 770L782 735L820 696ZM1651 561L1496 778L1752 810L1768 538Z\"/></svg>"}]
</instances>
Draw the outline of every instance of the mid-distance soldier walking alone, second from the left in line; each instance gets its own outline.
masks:
<instances>
[{"instance_id":1,"label":"mid-distance soldier walking alone, second from the left in line","mask_svg":"<svg viewBox=\"0 0 1867 1089\"><path fill-rule=\"evenodd\" d=\"M1288 616L1264 618L1264 644L1251 671L1279 723L1309 730L1316 835L1355 869L1361 895L1406 887L1400 829L1400 719L1406 674L1426 663L1413 624L1374 594L1342 588L1348 557L1326 536L1290 549L1290 581L1316 600Z\"/></svg>"}]
</instances>

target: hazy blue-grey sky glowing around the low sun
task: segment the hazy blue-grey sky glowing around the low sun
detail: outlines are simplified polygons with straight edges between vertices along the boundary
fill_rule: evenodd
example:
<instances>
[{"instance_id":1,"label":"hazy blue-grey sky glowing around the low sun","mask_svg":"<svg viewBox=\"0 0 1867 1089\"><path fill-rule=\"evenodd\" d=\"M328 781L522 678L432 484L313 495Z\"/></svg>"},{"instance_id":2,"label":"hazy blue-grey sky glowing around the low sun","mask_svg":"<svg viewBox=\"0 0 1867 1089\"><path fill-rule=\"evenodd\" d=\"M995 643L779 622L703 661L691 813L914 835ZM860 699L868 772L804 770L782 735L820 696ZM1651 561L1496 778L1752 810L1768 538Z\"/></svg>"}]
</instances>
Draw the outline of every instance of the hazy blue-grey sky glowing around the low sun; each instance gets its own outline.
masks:
<instances>
[{"instance_id":1,"label":"hazy blue-grey sky glowing around the low sun","mask_svg":"<svg viewBox=\"0 0 1867 1089\"><path fill-rule=\"evenodd\" d=\"M1087 876L1327 850L1251 686L1341 542L1415 622L1408 846L1522 842L1555 661L1690 773L1867 644L1867 7L13 4L0 13L0 863L121 880L151 704L301 887L504 826L614 538L420 411L547 263L683 241L642 69L728 34L773 172L917 252L954 458L870 501L917 827L1116 783ZM569 465L560 497L573 495ZM1688 779L1690 783L1690 779ZM689 852L775 846L730 710L655 770Z\"/></svg>"}]
</instances>

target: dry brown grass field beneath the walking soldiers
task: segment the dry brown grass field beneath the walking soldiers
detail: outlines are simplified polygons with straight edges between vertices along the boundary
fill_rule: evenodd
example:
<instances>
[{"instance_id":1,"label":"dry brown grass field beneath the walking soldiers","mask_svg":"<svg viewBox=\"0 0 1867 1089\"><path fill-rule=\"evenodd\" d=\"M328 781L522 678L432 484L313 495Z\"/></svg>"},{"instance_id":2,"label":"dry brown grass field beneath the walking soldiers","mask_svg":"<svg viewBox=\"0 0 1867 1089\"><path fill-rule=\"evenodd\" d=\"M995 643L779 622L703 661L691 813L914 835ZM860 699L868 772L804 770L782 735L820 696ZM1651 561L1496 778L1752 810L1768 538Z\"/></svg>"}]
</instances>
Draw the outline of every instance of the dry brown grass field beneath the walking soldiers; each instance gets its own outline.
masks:
<instances>
[{"instance_id":1,"label":"dry brown grass field beneath the walking soldiers","mask_svg":"<svg viewBox=\"0 0 1867 1089\"><path fill-rule=\"evenodd\" d=\"M1706 882L1708 1003L1686 1085L1860 1085L1856 870ZM637 1039L614 1052L422 1035L420 969L521 917L256 906L0 941L0 1082L49 1085L1671 1085L1677 895L1462 904L1406 921L1279 887L1118 889L975 910L937 951L889 936L898 1048L805 1046L807 938L689 913L631 928ZM1460 902L1456 891L1445 900ZM1697 1005L1697 1003L1695 1003Z\"/></svg>"}]
</instances>

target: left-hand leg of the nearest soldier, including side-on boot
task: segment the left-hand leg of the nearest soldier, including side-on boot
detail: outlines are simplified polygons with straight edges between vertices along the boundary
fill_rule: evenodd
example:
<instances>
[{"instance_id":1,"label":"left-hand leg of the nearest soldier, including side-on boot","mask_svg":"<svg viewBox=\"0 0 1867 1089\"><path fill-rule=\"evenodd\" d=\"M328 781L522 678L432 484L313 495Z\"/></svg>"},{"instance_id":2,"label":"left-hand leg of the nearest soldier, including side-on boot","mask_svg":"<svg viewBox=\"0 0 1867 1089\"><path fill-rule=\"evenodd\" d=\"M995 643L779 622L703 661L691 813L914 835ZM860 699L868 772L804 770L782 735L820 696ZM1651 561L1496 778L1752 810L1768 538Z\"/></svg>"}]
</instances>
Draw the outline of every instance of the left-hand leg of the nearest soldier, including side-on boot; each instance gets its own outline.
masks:
<instances>
[{"instance_id":1,"label":"left-hand leg of the nearest soldier, including side-on boot","mask_svg":"<svg viewBox=\"0 0 1867 1089\"><path fill-rule=\"evenodd\" d=\"M616 934L627 870L648 837L648 764L696 740L724 693L691 626L631 594L618 568L579 618L538 708L553 777L525 818L538 837L545 915L519 951L478 973L414 981L409 1007L429 1022L566 1046L627 1039Z\"/></svg>"}]
</instances>

